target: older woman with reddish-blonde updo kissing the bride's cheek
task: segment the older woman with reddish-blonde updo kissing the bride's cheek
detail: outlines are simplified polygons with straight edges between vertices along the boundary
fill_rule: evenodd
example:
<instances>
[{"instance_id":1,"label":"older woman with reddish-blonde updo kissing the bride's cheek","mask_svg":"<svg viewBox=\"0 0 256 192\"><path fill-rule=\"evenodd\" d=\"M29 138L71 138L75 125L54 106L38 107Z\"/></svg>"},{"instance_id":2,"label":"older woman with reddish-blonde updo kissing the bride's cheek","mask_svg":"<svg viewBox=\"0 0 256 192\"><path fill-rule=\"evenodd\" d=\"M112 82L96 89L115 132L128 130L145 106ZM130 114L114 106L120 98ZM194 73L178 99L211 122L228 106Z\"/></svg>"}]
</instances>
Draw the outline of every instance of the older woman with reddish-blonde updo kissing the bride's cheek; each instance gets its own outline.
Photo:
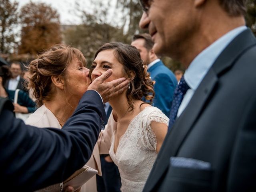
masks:
<instances>
[{"instance_id":1,"label":"older woman with reddish-blonde updo kissing the bride's cheek","mask_svg":"<svg viewBox=\"0 0 256 192\"><path fill-rule=\"evenodd\" d=\"M28 69L28 88L32 89L39 108L30 115L26 124L61 129L91 82L89 70L85 66L86 60L82 53L64 45L53 46L33 60ZM97 169L101 175L97 144L86 165ZM96 176L86 182L83 188L88 192L96 192Z\"/></svg>"}]
</instances>

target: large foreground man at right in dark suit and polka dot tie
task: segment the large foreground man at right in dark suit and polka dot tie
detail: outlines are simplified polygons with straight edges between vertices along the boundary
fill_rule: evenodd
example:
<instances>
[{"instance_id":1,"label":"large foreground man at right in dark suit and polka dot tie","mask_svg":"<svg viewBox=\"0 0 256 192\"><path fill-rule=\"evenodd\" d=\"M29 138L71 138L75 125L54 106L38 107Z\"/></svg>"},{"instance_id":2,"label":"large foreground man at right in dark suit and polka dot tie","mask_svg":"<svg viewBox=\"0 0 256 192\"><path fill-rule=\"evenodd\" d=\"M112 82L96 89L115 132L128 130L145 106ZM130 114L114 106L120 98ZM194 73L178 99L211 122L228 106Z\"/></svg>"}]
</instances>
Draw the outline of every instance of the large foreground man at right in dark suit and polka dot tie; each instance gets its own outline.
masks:
<instances>
[{"instance_id":1,"label":"large foreground man at right in dark suit and polka dot tie","mask_svg":"<svg viewBox=\"0 0 256 192\"><path fill-rule=\"evenodd\" d=\"M144 192L256 191L256 39L244 0L140 3L153 50L186 66Z\"/></svg>"}]
</instances>

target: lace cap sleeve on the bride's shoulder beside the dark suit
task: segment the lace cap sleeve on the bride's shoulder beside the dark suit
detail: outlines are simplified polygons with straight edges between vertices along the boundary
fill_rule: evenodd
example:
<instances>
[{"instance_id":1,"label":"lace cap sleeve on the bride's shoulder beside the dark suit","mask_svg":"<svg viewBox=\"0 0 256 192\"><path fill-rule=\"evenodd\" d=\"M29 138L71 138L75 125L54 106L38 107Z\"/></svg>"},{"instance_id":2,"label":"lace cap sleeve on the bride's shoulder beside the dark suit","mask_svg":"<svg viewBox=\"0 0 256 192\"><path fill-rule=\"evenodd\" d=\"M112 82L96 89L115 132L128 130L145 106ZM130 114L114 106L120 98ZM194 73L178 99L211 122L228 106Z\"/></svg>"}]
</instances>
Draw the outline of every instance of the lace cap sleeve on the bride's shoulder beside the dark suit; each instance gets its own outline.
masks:
<instances>
[{"instance_id":1,"label":"lace cap sleeve on the bride's shoulder beside the dark suit","mask_svg":"<svg viewBox=\"0 0 256 192\"><path fill-rule=\"evenodd\" d=\"M152 121L164 123L168 126L169 119L156 107L149 107L145 111L142 122L142 144L149 150L156 150L156 135L150 127Z\"/></svg>"}]
</instances>

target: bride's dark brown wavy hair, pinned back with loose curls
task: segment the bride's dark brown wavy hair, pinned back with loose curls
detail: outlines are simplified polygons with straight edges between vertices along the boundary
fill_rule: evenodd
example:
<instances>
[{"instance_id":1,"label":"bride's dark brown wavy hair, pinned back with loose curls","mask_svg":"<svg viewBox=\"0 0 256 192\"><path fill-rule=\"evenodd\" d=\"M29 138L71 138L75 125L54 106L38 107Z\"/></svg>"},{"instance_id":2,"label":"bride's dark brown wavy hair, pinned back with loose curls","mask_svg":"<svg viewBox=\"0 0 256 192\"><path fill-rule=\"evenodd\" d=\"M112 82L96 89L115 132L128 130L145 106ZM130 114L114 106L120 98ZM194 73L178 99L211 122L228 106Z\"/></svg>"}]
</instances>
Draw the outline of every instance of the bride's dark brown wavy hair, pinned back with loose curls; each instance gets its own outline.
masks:
<instances>
[{"instance_id":1,"label":"bride's dark brown wavy hair, pinned back with loose curls","mask_svg":"<svg viewBox=\"0 0 256 192\"><path fill-rule=\"evenodd\" d=\"M99 52L104 50L114 50L116 59L124 66L124 72L127 74L127 77L131 79L130 89L128 89L126 93L126 98L130 106L129 110L134 109L133 100L142 100L143 96L152 104L152 99L155 95L153 90L154 82L150 79L147 66L142 64L142 59L140 58L140 53L137 48L120 42L106 43L97 50L94 59ZM92 70L91 68L90 76Z\"/></svg>"}]
</instances>

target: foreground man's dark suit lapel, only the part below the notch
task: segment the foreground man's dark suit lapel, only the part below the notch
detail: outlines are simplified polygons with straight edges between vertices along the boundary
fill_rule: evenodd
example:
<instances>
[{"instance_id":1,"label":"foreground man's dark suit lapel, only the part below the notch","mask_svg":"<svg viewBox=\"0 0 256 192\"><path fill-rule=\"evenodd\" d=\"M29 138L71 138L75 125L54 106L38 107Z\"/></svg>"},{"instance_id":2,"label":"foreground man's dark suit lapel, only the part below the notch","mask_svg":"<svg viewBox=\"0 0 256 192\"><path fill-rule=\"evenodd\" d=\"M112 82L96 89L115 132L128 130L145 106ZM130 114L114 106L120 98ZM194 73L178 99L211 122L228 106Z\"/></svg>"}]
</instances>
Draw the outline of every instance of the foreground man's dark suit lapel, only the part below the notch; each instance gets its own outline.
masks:
<instances>
[{"instance_id":1,"label":"foreground man's dark suit lapel, only the part below the notch","mask_svg":"<svg viewBox=\"0 0 256 192\"><path fill-rule=\"evenodd\" d=\"M184 112L174 123L170 133L166 136L163 143L164 147L161 148L146 182L148 189L152 190L158 180L160 180L161 176L164 175L164 172L169 166L170 157L175 156L178 152L180 145L200 114L206 100L214 90L217 81L218 79L215 72L210 69L207 76L204 78L204 83L201 83L200 89L198 88L198 90L196 90L191 102L189 102Z\"/></svg>"}]
</instances>

